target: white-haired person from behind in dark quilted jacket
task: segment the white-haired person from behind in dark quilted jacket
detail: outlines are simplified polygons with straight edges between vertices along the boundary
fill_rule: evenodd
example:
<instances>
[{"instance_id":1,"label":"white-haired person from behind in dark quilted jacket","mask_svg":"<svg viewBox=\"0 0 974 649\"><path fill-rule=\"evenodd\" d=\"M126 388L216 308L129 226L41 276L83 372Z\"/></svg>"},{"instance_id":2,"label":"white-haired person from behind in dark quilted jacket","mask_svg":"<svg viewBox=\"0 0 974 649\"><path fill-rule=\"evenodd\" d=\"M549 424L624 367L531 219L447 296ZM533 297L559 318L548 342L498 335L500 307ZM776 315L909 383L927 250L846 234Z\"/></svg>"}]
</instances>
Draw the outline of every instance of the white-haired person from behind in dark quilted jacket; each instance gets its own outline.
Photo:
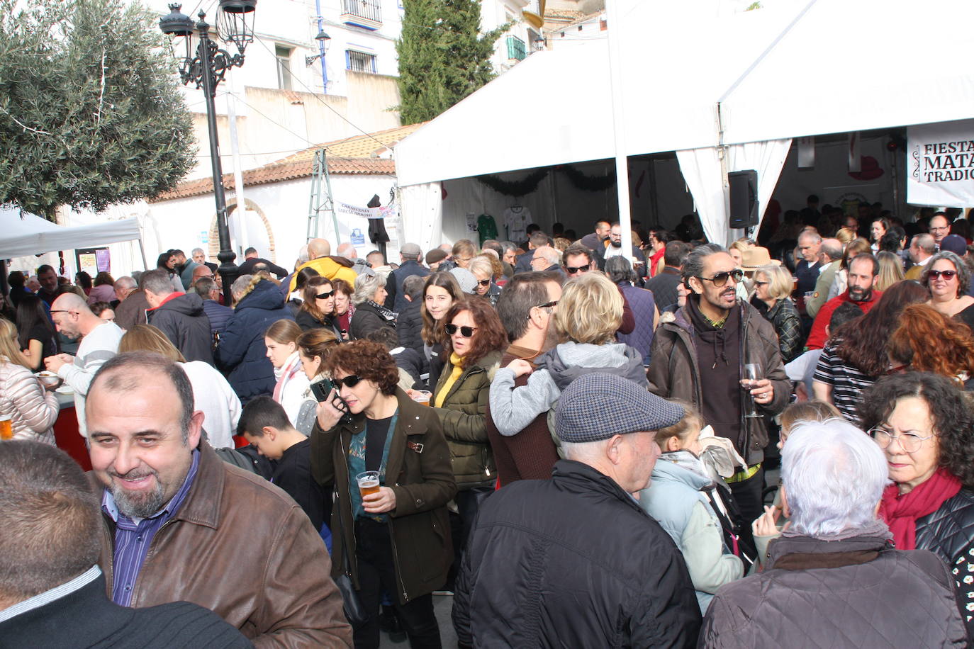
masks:
<instances>
[{"instance_id":1,"label":"white-haired person from behind in dark quilted jacket","mask_svg":"<svg viewBox=\"0 0 974 649\"><path fill-rule=\"evenodd\" d=\"M876 443L832 418L793 429L781 455L791 526L764 572L714 597L697 646L966 646L947 566L894 549L877 516L889 468Z\"/></svg>"}]
</instances>

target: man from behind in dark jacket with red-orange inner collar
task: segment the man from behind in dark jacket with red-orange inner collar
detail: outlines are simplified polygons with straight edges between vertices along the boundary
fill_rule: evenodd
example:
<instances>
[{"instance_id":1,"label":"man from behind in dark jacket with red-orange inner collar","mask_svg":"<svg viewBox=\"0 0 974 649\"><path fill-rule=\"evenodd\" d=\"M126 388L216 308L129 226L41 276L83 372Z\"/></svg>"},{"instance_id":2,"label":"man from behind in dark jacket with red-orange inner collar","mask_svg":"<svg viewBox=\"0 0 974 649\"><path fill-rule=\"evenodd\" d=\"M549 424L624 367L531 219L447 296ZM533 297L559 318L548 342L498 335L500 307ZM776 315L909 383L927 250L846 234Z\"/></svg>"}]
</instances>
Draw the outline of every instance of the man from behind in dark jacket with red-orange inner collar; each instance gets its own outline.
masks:
<instances>
[{"instance_id":1,"label":"man from behind in dark jacket with red-orange inner collar","mask_svg":"<svg viewBox=\"0 0 974 649\"><path fill-rule=\"evenodd\" d=\"M166 270L142 275L142 290L149 303L149 324L158 327L187 361L213 364L213 339L203 299L172 290Z\"/></svg>"}]
</instances>

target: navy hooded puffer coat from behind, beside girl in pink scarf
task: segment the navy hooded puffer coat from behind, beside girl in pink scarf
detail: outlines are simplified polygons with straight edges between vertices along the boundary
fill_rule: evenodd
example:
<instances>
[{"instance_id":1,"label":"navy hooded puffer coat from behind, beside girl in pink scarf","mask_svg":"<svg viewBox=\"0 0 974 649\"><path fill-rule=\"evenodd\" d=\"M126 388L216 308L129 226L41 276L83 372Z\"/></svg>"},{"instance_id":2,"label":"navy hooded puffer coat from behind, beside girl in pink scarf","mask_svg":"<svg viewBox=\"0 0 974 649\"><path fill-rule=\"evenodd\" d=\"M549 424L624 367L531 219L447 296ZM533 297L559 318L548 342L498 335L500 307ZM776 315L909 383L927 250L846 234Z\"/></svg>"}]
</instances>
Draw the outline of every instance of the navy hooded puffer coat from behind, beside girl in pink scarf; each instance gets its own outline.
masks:
<instances>
[{"instance_id":1,"label":"navy hooded puffer coat from behind, beside girl in pink scarf","mask_svg":"<svg viewBox=\"0 0 974 649\"><path fill-rule=\"evenodd\" d=\"M220 369L230 373L227 380L244 404L261 394L274 393L277 379L267 357L264 332L281 319L293 318L278 287L262 279L237 304L220 337L216 361Z\"/></svg>"}]
</instances>

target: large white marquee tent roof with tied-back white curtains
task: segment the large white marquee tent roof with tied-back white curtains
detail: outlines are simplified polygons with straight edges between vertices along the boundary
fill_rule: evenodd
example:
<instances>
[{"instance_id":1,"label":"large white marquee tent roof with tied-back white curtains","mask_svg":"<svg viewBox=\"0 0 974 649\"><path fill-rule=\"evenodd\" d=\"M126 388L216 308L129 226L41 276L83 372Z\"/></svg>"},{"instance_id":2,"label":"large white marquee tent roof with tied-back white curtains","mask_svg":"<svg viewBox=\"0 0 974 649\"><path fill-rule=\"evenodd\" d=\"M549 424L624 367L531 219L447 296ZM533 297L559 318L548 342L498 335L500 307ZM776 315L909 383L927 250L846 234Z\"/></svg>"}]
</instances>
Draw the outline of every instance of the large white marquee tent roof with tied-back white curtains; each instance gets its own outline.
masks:
<instances>
[{"instance_id":1,"label":"large white marquee tent roof with tied-back white curtains","mask_svg":"<svg viewBox=\"0 0 974 649\"><path fill-rule=\"evenodd\" d=\"M969 0L618 6L625 153L676 152L711 240L731 236L724 171L757 169L763 209L793 137L974 115ZM438 242L440 181L613 158L608 71L604 41L532 54L400 142L405 240Z\"/></svg>"}]
</instances>

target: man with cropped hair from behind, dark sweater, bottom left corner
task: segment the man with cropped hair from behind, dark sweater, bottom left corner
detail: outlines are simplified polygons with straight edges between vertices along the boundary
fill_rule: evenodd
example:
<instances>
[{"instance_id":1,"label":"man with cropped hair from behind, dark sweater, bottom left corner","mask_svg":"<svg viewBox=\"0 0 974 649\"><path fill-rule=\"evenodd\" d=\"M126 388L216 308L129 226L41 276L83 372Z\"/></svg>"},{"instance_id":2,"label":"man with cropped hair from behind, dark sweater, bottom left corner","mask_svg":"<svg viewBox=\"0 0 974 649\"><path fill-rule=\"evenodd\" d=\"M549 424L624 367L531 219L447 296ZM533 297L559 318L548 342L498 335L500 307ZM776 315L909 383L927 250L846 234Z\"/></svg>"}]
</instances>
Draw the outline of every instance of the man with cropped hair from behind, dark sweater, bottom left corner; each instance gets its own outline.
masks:
<instances>
[{"instance_id":1,"label":"man with cropped hair from behind, dark sweater, bottom left corner","mask_svg":"<svg viewBox=\"0 0 974 649\"><path fill-rule=\"evenodd\" d=\"M98 569L98 499L81 468L39 442L0 444L0 648L252 647L188 601L126 608Z\"/></svg>"}]
</instances>

